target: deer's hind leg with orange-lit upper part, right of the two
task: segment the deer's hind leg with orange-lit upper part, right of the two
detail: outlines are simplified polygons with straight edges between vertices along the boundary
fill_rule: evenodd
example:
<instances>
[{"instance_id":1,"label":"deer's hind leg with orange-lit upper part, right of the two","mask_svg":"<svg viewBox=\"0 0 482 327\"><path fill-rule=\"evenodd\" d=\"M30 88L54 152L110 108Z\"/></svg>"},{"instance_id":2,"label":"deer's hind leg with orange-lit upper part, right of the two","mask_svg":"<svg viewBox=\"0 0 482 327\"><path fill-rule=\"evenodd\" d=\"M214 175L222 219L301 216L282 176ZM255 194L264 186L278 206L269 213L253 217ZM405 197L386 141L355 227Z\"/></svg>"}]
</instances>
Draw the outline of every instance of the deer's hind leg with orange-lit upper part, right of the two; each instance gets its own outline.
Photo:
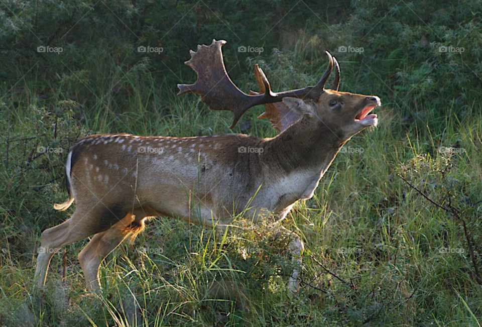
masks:
<instances>
[{"instance_id":1,"label":"deer's hind leg with orange-lit upper part, right of the two","mask_svg":"<svg viewBox=\"0 0 482 327\"><path fill-rule=\"evenodd\" d=\"M132 234L130 227L135 215L128 213L105 232L98 233L80 251L79 262L84 272L87 289L99 290L99 267L102 260Z\"/></svg>"}]
</instances>

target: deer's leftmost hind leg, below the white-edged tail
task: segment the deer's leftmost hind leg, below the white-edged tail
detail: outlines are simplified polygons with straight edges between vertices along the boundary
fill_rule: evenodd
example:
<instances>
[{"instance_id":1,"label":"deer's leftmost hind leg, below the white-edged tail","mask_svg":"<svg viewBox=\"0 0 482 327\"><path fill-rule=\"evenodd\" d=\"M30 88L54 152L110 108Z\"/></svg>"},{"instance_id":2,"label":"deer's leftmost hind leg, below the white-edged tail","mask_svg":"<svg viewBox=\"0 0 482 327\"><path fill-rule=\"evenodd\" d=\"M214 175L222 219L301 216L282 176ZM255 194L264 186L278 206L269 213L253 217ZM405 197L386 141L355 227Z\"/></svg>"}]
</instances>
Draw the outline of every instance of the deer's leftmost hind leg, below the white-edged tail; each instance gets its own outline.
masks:
<instances>
[{"instance_id":1,"label":"deer's leftmost hind leg, below the white-edged tail","mask_svg":"<svg viewBox=\"0 0 482 327\"><path fill-rule=\"evenodd\" d=\"M49 228L42 233L40 247L38 249L37 268L35 271L35 284L39 288L45 285L50 260L55 252L63 246L80 241L94 234L82 228L84 225L82 225L80 221L84 216L76 211L69 220Z\"/></svg>"}]
</instances>

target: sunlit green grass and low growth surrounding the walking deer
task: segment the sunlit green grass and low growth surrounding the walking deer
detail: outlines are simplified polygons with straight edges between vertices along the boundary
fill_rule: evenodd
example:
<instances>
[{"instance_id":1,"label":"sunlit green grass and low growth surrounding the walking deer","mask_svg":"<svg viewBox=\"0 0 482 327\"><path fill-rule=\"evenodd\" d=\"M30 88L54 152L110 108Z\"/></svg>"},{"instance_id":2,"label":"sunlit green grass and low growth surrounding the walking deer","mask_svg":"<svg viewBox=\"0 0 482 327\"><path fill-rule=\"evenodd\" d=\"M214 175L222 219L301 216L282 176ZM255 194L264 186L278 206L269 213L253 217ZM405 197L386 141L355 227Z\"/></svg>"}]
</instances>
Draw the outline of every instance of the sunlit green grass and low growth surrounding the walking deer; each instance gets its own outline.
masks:
<instances>
[{"instance_id":1,"label":"sunlit green grass and low growth surrounding the walking deer","mask_svg":"<svg viewBox=\"0 0 482 327\"><path fill-rule=\"evenodd\" d=\"M122 72L112 80L118 76ZM248 77L243 78L239 85ZM445 116L437 114L439 108L405 108L423 113L408 123L401 122L398 102L377 109L379 126L348 141L314 197L297 203L283 222L306 247L297 295L285 288L292 268L286 242L274 240L269 224L252 226L239 217L233 224L244 230L226 234L158 217L133 244L125 242L104 260L100 294L86 292L77 261L88 240L74 243L52 259L45 291L33 294L40 233L74 210L55 212L52 203L66 197L62 163L78 135L230 132L230 115L208 111L195 96L161 96L162 83L129 75L126 81L121 94L95 95L99 101L90 110L78 105L68 87L39 98L38 81L25 82L15 96L3 99L7 110L0 119L6 124L0 130L10 147L9 165L4 159L0 172L1 323L122 326L129 318L119 312L137 312L140 306L138 322L145 326L480 326L482 289L460 224L397 176L444 204L448 187L480 244L480 103L465 108L463 117L450 105ZM372 87L384 88L381 81ZM248 113L247 132L274 136L269 122L256 119L261 112ZM65 150L39 155L39 145ZM440 147L463 152L447 155ZM441 178L437 169L447 162L450 169ZM217 283L232 284L235 298L210 296Z\"/></svg>"}]
</instances>

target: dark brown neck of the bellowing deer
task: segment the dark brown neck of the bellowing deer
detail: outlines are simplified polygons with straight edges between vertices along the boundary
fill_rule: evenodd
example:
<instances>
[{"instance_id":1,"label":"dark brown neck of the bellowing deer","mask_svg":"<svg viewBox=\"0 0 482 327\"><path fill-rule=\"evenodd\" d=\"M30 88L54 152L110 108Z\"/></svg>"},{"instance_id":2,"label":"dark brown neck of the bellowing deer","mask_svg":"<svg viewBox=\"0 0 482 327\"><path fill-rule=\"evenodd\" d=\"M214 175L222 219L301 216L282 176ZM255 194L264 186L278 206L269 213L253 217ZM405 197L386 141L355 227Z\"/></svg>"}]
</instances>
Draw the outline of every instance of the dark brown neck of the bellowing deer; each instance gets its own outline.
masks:
<instances>
[{"instance_id":1,"label":"dark brown neck of the bellowing deer","mask_svg":"<svg viewBox=\"0 0 482 327\"><path fill-rule=\"evenodd\" d=\"M336 131L321 125L302 118L277 137L268 140L265 158L273 169L287 174L306 170L319 174L321 178L344 144Z\"/></svg>"}]
</instances>

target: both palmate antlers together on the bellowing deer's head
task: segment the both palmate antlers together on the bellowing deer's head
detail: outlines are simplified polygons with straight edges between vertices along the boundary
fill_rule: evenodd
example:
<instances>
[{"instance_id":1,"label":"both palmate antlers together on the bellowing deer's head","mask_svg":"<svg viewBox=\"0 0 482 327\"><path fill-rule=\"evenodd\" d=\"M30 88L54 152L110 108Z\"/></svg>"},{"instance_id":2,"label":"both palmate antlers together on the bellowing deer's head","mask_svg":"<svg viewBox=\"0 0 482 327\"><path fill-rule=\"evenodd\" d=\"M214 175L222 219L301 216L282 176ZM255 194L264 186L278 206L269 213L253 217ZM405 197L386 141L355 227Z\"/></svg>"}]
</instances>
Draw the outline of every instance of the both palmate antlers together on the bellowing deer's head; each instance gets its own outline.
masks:
<instances>
[{"instance_id":1,"label":"both palmate antlers together on the bellowing deer's head","mask_svg":"<svg viewBox=\"0 0 482 327\"><path fill-rule=\"evenodd\" d=\"M272 92L270 82L263 70L256 65L255 78L260 87L260 92L250 92L248 95L238 89L227 75L222 59L221 46L226 44L224 40L212 40L210 46L198 45L197 52L190 51L191 59L185 62L197 73L194 84L178 84L181 95L194 92L201 96L201 101L206 103L212 110L228 110L234 114L234 119L229 126L234 128L239 118L252 106L265 104L266 112L260 118L268 118L272 126L280 131L296 122L301 116L292 112L283 102L284 97L309 98L318 100L324 91L324 85L328 79L333 65L335 66L335 80L332 89L338 90L340 69L336 59L328 55L329 63L326 71L315 86L284 92ZM277 103L278 102L278 103Z\"/></svg>"}]
</instances>

